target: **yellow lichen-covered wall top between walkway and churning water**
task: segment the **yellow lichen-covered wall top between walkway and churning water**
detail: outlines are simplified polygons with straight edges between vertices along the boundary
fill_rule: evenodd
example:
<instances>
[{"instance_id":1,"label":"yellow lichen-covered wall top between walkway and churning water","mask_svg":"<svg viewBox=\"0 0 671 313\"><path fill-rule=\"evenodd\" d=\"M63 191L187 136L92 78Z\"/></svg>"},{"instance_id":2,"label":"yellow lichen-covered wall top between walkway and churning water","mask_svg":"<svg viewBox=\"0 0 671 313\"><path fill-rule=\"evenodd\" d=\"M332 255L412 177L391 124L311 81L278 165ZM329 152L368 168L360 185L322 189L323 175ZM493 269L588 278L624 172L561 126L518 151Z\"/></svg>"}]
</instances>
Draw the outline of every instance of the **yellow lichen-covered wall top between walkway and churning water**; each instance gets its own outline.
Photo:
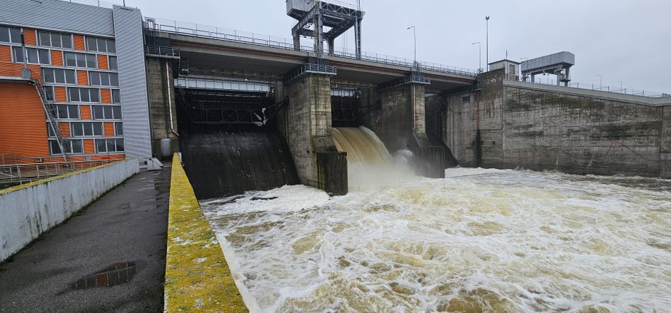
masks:
<instances>
[{"instance_id":1,"label":"yellow lichen-covered wall top between walkway and churning water","mask_svg":"<svg viewBox=\"0 0 671 313\"><path fill-rule=\"evenodd\" d=\"M173 157L165 312L248 312L191 183Z\"/></svg>"}]
</instances>

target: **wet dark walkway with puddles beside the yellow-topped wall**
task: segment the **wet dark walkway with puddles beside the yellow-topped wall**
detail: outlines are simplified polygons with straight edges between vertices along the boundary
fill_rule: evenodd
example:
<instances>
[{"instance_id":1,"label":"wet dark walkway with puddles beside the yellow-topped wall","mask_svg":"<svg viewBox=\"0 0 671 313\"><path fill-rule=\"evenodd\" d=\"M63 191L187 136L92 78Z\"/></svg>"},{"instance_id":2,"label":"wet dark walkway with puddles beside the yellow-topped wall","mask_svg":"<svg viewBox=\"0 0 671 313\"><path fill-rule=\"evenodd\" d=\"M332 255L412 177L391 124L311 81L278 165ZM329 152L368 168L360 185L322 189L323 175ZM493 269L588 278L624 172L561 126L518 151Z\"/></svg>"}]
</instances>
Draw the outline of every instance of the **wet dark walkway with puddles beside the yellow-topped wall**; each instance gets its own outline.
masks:
<instances>
[{"instance_id":1,"label":"wet dark walkway with puddles beside the yellow-topped wall","mask_svg":"<svg viewBox=\"0 0 671 313\"><path fill-rule=\"evenodd\" d=\"M0 312L163 312L170 170L134 175L0 265Z\"/></svg>"}]
</instances>

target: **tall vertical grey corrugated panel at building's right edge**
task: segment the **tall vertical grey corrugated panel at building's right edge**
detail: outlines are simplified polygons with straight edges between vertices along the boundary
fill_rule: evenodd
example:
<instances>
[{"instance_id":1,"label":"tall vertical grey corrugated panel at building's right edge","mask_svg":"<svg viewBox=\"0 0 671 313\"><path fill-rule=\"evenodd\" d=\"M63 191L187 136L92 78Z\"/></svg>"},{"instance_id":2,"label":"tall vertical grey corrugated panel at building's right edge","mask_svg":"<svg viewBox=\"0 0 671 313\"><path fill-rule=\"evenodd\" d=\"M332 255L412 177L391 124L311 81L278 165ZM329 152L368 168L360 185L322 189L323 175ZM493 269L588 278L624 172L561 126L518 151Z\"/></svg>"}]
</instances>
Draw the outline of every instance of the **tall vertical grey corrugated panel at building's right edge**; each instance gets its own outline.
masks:
<instances>
[{"instance_id":1,"label":"tall vertical grey corrugated panel at building's right edge","mask_svg":"<svg viewBox=\"0 0 671 313\"><path fill-rule=\"evenodd\" d=\"M151 133L142 14L138 9L114 6L113 16L126 155L131 158L150 158Z\"/></svg>"}]
</instances>

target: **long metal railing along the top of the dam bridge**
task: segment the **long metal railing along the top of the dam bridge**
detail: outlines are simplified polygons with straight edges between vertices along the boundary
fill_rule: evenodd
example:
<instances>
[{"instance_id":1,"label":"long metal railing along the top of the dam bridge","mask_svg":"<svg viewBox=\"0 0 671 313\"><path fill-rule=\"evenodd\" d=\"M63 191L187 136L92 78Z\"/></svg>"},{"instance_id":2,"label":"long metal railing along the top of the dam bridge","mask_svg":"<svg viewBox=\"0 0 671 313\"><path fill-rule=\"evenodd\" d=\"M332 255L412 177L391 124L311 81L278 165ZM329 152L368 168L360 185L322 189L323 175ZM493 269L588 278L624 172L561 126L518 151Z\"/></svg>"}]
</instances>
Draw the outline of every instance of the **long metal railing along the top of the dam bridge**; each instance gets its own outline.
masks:
<instances>
[{"instance_id":1,"label":"long metal railing along the top of the dam bridge","mask_svg":"<svg viewBox=\"0 0 671 313\"><path fill-rule=\"evenodd\" d=\"M196 36L210 39L221 39L225 41L233 41L239 43L249 43L258 46L268 46L273 48L281 48L286 50L295 50L293 46L293 39L286 39L276 36L261 35L249 33L245 31L237 31L234 29L224 29L217 26L206 26L201 24L185 23L166 19L146 18L144 22L145 29L150 31L162 31L172 34L180 34L186 36ZM313 46L300 46L298 49L305 52L314 52ZM328 49L325 48L323 53L328 54ZM410 58L401 58L398 56L389 56L383 53L362 52L361 57L358 58L355 51L348 51L344 48L336 47L333 56L342 58L360 59L364 61L371 61L375 63L383 63L388 65L403 66L412 68L415 62ZM478 76L478 71L470 68L460 68L456 66L447 66L439 63L418 62L418 68L423 71L436 71L440 73L451 73L461 76Z\"/></svg>"}]
</instances>

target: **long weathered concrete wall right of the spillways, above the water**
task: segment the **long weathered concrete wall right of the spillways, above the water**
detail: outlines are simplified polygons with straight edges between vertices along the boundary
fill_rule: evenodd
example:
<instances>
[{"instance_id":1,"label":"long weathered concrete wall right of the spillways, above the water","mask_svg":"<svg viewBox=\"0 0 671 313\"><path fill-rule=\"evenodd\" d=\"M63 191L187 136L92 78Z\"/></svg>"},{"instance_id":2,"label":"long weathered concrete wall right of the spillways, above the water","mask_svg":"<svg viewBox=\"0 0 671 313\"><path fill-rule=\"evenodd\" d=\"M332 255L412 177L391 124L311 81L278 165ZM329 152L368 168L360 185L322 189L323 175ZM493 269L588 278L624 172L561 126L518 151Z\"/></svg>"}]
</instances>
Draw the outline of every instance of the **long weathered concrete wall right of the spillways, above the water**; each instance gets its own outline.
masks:
<instances>
[{"instance_id":1,"label":"long weathered concrete wall right of the spillways, above the water","mask_svg":"<svg viewBox=\"0 0 671 313\"><path fill-rule=\"evenodd\" d=\"M427 98L462 166L671 177L671 101L504 81ZM558 89L559 88L559 89Z\"/></svg>"}]
</instances>

